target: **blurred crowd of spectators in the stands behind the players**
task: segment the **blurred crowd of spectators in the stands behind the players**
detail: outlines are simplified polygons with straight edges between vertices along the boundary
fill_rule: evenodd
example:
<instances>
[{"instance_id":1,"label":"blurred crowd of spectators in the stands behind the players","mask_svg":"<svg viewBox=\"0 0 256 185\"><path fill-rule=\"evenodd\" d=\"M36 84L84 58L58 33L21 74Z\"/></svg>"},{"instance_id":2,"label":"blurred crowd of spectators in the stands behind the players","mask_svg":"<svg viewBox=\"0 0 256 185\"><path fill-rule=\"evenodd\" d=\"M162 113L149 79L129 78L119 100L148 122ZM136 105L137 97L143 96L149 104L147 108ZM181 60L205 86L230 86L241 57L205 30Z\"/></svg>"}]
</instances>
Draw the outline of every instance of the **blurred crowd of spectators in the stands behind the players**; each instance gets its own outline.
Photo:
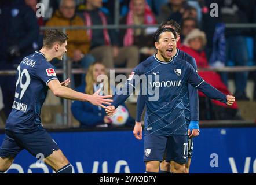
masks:
<instances>
[{"instance_id":1,"label":"blurred crowd of spectators in the stands behind the players","mask_svg":"<svg viewBox=\"0 0 256 185\"><path fill-rule=\"evenodd\" d=\"M36 16L41 7L36 6L38 3L44 5L43 17ZM212 3L218 5L215 17L210 14ZM254 0L119 0L118 23L158 26L166 20L177 21L181 27L178 48L195 58L199 71L209 66L255 66L256 29L225 27L226 23L256 23L255 10ZM23 57L41 49L42 26L113 25L115 22L115 1L111 0L2 0L0 70L16 70ZM68 62L72 62L73 69L89 69L90 65L97 64L95 62L102 64L104 69L134 68L156 53L152 39L154 31L152 27L67 30ZM53 65L62 68L63 63L56 60ZM255 84L255 71L199 74L225 93L229 92L228 79L232 78L236 99L250 101L246 86L248 79ZM72 75L71 78L72 88L85 92L85 75ZM10 113L15 86L16 76L0 75L0 115ZM251 101L256 100L255 86L253 94ZM199 97L200 119L241 119L237 105L226 108L203 94L199 93ZM75 106L83 105L76 103ZM75 106L72 105L73 112ZM104 115L100 117L101 124L108 122ZM79 121L83 124L83 120Z\"/></svg>"}]
</instances>

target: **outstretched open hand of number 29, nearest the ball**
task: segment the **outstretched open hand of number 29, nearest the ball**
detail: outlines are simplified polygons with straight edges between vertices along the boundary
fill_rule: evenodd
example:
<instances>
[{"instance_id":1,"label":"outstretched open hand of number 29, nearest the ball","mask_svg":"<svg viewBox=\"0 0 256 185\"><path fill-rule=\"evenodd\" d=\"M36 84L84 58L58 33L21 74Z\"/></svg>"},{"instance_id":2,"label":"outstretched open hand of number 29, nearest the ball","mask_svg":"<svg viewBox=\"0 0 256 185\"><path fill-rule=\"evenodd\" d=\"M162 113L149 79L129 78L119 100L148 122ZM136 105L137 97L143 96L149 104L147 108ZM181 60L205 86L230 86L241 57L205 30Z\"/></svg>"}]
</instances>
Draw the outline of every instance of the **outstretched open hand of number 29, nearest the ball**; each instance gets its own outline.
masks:
<instances>
[{"instance_id":1,"label":"outstretched open hand of number 29, nearest the ball","mask_svg":"<svg viewBox=\"0 0 256 185\"><path fill-rule=\"evenodd\" d=\"M111 105L111 102L113 102L112 95L98 95L100 93L101 89L99 89L97 92L95 92L93 95L90 95L89 102L96 106L101 106L102 108L106 109L107 107L105 105Z\"/></svg>"}]
</instances>

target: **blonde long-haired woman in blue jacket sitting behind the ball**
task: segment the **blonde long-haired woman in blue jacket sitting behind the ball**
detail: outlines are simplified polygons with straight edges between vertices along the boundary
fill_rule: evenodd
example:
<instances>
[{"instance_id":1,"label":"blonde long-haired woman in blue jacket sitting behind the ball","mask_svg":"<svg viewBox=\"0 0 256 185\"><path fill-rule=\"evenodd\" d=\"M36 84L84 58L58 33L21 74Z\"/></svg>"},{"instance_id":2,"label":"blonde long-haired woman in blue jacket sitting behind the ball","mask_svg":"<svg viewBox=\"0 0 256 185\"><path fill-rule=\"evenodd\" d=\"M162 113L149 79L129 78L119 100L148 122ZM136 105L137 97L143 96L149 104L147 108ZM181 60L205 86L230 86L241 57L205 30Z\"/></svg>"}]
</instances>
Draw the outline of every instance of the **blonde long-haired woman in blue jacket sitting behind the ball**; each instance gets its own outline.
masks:
<instances>
[{"instance_id":1,"label":"blonde long-haired woman in blue jacket sitting behind the ball","mask_svg":"<svg viewBox=\"0 0 256 185\"><path fill-rule=\"evenodd\" d=\"M106 75L105 66L100 62L94 62L90 65L86 73L85 82L79 86L76 91L93 94L99 88L103 88L102 94L112 94L115 90L112 89L106 80L97 82L99 75ZM123 103L125 106L125 103ZM71 106L72 113L76 120L80 122L81 127L109 127L111 119L106 115L105 110L100 106L95 106L89 102L74 101ZM127 109L128 110L128 109ZM129 116L126 125L133 125L134 119Z\"/></svg>"}]
</instances>

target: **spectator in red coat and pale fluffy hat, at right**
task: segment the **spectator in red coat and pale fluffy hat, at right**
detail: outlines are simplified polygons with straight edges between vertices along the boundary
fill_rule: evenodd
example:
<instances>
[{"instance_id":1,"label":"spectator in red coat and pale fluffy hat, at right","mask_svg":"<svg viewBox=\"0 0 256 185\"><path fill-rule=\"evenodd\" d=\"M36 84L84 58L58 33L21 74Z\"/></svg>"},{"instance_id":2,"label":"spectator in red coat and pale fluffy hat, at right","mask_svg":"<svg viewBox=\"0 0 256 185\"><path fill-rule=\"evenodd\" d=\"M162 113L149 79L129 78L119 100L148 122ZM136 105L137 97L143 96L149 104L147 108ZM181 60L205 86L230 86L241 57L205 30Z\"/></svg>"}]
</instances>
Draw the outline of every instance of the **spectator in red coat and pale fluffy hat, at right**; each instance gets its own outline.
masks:
<instances>
[{"instance_id":1,"label":"spectator in red coat and pale fluffy hat, at right","mask_svg":"<svg viewBox=\"0 0 256 185\"><path fill-rule=\"evenodd\" d=\"M209 67L208 60L206 58L206 53L204 52L204 47L206 46L206 34L200 31L198 28L193 29L185 38L184 45L180 48L181 50L185 51L186 53L190 54L196 60L196 65L198 68L207 68ZM200 76L207 83L211 84L213 87L217 88L224 94L231 94L228 90L228 87L222 82L221 77L218 73L214 71L199 71ZM207 106L202 102L205 101L206 96L199 91L199 102L200 102L200 119L202 120L221 120L221 119L238 119L238 107L237 103L235 102L232 106L228 107L223 103L220 103L215 100L211 100L213 105L210 103L211 114L206 112ZM210 115L211 117L208 117Z\"/></svg>"}]
</instances>

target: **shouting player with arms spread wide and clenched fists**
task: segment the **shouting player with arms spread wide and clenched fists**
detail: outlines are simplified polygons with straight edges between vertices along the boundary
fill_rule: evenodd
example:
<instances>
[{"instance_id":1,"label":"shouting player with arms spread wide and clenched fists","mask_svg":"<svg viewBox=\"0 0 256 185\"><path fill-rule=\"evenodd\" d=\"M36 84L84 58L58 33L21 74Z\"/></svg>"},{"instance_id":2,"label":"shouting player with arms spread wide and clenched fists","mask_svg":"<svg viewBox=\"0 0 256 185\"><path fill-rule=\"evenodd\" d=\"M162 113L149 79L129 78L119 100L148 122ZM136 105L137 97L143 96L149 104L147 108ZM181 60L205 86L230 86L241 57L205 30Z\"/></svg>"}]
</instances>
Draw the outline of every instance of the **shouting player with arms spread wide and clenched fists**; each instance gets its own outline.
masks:
<instances>
[{"instance_id":1,"label":"shouting player with arms spread wide and clenched fists","mask_svg":"<svg viewBox=\"0 0 256 185\"><path fill-rule=\"evenodd\" d=\"M189 62L174 57L176 33L171 28L161 28L155 33L158 52L134 68L123 86L123 94L115 95L114 102L106 110L112 116L115 108L124 102L139 84L145 95L144 162L146 173L158 173L160 162L166 152L166 161L171 163L171 172L185 173L188 157L188 128L185 119L184 98L188 83L198 88L207 97L232 105L235 97L222 94L204 82ZM143 82L143 78L147 82ZM139 79L139 80L138 80ZM140 90L141 91L141 90ZM153 92L153 93L152 93ZM141 117L144 107L137 109ZM135 127L141 127L136 125ZM134 132L134 135L137 133ZM141 136L140 136L141 139Z\"/></svg>"}]
</instances>

